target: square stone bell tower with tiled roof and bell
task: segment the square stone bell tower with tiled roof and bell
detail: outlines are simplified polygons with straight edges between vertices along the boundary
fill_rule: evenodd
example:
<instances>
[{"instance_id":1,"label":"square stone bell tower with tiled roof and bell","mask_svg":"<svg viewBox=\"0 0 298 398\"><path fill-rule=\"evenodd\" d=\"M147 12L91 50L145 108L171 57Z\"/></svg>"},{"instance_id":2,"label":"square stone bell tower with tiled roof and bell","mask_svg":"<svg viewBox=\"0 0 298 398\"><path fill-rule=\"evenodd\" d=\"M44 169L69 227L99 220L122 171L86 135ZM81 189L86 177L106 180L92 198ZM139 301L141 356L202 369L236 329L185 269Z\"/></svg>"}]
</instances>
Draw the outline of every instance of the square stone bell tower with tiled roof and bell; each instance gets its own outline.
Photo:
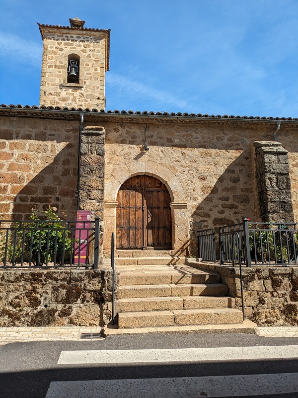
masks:
<instances>
[{"instance_id":1,"label":"square stone bell tower with tiled roof and bell","mask_svg":"<svg viewBox=\"0 0 298 398\"><path fill-rule=\"evenodd\" d=\"M105 72L109 70L110 29L44 25L39 105L61 108L105 108Z\"/></svg>"}]
</instances>

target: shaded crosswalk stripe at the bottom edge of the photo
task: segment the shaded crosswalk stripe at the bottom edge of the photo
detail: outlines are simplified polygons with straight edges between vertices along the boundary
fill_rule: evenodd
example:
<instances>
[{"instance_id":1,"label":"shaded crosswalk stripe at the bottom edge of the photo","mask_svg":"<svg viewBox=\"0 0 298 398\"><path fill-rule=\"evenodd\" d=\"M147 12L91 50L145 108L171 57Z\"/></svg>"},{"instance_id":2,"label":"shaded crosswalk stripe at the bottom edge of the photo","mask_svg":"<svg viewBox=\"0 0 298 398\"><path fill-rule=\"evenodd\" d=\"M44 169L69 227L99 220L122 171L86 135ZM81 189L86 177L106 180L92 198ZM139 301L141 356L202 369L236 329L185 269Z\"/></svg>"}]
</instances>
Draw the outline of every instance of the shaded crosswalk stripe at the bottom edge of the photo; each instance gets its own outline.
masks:
<instances>
[{"instance_id":1,"label":"shaded crosswalk stripe at the bottom edge of the photo","mask_svg":"<svg viewBox=\"0 0 298 398\"><path fill-rule=\"evenodd\" d=\"M298 373L51 382L46 398L249 397L298 392Z\"/></svg>"}]
</instances>

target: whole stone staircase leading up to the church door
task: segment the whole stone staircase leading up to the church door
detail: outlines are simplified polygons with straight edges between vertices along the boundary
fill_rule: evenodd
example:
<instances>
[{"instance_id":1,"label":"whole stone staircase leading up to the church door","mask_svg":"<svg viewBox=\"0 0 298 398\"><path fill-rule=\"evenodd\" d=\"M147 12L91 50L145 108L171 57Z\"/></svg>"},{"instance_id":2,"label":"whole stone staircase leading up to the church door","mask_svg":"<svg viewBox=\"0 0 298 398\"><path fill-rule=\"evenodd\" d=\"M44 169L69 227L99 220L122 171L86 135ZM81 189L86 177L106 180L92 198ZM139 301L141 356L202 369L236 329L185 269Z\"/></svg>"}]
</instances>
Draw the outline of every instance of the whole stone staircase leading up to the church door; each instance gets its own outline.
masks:
<instances>
[{"instance_id":1,"label":"whole stone staircase leading up to the church door","mask_svg":"<svg viewBox=\"0 0 298 398\"><path fill-rule=\"evenodd\" d=\"M219 274L168 253L142 255L115 259L120 270L119 328L242 324L242 312L234 308Z\"/></svg>"}]
</instances>

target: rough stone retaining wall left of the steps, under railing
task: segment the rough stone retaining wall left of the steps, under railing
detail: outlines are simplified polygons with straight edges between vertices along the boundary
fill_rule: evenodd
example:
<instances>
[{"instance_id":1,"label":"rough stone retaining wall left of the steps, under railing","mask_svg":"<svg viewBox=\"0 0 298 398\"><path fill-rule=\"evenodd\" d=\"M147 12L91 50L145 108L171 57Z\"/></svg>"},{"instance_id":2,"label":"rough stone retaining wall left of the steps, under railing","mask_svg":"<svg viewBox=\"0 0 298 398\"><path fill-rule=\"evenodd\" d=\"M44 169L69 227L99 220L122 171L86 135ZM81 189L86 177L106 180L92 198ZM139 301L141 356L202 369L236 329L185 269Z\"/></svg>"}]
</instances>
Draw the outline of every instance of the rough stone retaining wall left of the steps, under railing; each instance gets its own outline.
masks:
<instances>
[{"instance_id":1,"label":"rough stone retaining wall left of the steps, under railing","mask_svg":"<svg viewBox=\"0 0 298 398\"><path fill-rule=\"evenodd\" d=\"M116 271L116 286L118 284ZM111 319L112 271L0 271L0 327L103 326Z\"/></svg>"}]
</instances>

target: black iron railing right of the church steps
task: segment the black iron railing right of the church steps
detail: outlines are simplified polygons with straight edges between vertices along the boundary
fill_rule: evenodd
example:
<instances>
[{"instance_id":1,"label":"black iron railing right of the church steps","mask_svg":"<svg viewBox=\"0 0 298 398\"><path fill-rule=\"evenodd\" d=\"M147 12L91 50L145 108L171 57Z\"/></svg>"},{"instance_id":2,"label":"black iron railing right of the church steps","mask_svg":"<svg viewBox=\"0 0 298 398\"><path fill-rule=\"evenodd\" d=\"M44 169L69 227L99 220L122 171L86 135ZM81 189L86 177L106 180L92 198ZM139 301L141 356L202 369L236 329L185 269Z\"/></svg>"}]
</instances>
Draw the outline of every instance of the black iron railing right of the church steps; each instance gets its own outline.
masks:
<instances>
[{"instance_id":1,"label":"black iron railing right of the church steps","mask_svg":"<svg viewBox=\"0 0 298 398\"><path fill-rule=\"evenodd\" d=\"M231 265L296 265L298 264L298 224L242 223L219 228L219 255L216 234L212 229L198 231L198 253L204 261Z\"/></svg>"}]
</instances>

